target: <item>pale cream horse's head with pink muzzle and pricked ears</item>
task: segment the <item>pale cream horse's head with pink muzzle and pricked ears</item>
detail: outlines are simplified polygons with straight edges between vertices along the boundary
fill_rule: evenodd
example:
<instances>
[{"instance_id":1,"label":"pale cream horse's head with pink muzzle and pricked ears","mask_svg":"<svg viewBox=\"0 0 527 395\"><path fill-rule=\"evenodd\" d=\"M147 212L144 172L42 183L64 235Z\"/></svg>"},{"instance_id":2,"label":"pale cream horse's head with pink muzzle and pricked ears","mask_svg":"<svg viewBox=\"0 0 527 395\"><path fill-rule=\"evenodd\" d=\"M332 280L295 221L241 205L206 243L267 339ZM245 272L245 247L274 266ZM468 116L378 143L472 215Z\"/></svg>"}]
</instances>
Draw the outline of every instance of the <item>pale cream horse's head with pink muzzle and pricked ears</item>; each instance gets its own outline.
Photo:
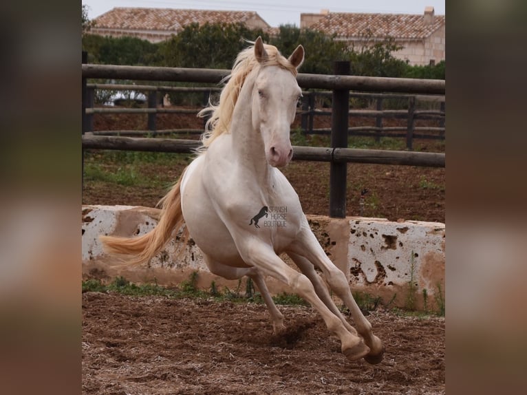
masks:
<instances>
[{"instance_id":1,"label":"pale cream horse's head with pink muzzle and pricked ears","mask_svg":"<svg viewBox=\"0 0 527 395\"><path fill-rule=\"evenodd\" d=\"M267 162L273 167L282 167L293 156L289 134L302 94L296 74L303 62L304 50L299 45L288 59L280 60L281 55L268 53L258 37L255 57L261 67L252 91L252 127L261 133Z\"/></svg>"}]
</instances>

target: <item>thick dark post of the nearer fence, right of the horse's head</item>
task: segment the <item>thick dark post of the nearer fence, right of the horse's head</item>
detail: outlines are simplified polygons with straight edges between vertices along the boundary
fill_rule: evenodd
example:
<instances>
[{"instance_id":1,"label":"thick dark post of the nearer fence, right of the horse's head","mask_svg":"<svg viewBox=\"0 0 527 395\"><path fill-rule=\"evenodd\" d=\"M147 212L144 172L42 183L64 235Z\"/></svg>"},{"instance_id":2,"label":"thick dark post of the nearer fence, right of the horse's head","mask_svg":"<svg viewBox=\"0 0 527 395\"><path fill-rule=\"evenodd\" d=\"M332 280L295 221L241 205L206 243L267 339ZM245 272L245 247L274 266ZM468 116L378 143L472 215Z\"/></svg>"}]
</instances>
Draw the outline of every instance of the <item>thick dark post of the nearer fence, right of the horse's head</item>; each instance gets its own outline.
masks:
<instances>
[{"instance_id":1,"label":"thick dark post of the nearer fence, right of the horse's head","mask_svg":"<svg viewBox=\"0 0 527 395\"><path fill-rule=\"evenodd\" d=\"M334 74L349 75L349 61L334 62ZM349 125L349 90L333 89L331 116L332 148L347 147ZM346 216L347 163L331 162L330 167L330 217Z\"/></svg>"}]
</instances>

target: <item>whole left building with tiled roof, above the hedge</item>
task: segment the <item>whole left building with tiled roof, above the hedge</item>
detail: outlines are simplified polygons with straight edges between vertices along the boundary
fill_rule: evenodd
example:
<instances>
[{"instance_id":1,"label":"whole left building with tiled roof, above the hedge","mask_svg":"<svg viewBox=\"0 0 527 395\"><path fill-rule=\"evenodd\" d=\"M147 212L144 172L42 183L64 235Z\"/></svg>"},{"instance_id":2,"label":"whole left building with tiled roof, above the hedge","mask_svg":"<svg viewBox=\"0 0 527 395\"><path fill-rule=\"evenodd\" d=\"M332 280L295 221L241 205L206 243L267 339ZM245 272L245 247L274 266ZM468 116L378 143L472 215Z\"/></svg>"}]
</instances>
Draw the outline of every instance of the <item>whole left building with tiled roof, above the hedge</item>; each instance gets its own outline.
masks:
<instances>
[{"instance_id":1,"label":"whole left building with tiled roof, above the hedge","mask_svg":"<svg viewBox=\"0 0 527 395\"><path fill-rule=\"evenodd\" d=\"M158 43L178 34L191 23L244 23L249 29L270 30L252 11L175 10L172 8L113 8L94 19L91 34L131 36Z\"/></svg>"}]
</instances>

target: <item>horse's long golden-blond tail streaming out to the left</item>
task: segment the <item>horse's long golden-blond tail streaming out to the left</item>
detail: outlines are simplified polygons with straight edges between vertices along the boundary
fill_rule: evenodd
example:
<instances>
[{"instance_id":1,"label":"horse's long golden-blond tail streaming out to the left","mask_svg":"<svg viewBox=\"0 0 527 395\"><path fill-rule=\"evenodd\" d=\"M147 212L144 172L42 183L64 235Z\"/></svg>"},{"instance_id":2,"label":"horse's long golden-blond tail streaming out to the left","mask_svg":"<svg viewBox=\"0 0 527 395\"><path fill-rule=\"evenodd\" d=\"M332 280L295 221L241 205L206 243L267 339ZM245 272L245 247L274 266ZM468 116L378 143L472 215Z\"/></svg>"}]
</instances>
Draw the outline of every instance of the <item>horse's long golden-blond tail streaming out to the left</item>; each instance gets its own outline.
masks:
<instances>
[{"instance_id":1,"label":"horse's long golden-blond tail streaming out to the left","mask_svg":"<svg viewBox=\"0 0 527 395\"><path fill-rule=\"evenodd\" d=\"M105 252L110 255L127 255L130 259L127 259L124 264L133 266L149 261L162 250L166 242L171 239L173 231L179 231L184 224L180 193L182 178L183 175L169 193L160 200L161 215L155 228L140 237L99 236ZM181 239L185 242L189 236L186 226L183 232Z\"/></svg>"}]
</instances>

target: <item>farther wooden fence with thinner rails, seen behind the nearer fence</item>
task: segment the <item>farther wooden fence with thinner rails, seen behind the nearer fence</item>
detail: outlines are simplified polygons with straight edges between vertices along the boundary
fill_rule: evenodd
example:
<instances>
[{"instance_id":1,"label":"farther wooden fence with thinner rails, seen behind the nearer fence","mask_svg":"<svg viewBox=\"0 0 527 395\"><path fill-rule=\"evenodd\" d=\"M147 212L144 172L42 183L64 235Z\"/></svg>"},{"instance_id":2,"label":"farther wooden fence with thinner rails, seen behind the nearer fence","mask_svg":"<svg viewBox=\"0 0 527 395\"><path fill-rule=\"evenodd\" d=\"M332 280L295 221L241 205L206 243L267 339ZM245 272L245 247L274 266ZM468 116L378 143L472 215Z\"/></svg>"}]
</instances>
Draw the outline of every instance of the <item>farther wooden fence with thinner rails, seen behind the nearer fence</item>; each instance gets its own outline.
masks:
<instances>
[{"instance_id":1,"label":"farther wooden fence with thinner rails, seen behind the nearer fence","mask_svg":"<svg viewBox=\"0 0 527 395\"><path fill-rule=\"evenodd\" d=\"M147 108L108 108L94 107L95 92L101 91L134 91L147 92ZM211 98L211 94L221 91L219 87L171 87L160 85L124 85L124 84L87 84L87 131L93 131L93 114L148 114L147 129L144 130L100 130L94 131L96 135L103 136L156 136L167 134L202 134L203 129L158 129L156 114L195 114L200 109L184 109L160 107L162 94L166 92L177 94L200 93L202 94L202 107L205 107ZM301 116L301 129L303 134L331 134L331 128L315 129L314 117L332 116L332 111L324 107L316 108L317 99L330 98L332 92L303 91L301 108L297 114ZM444 96L417 96L403 94L370 94L363 92L350 92L350 98L367 99L376 103L376 109L349 109L350 117L375 118L375 126L348 127L348 136L373 137L377 142L382 137L406 138L407 149L413 149L414 138L444 140ZM406 103L407 109L383 109L386 100L398 100ZM438 102L439 110L416 109L416 101ZM383 125L385 118L406 118L406 125L387 127ZM416 120L436 120L438 127L416 127ZM204 120L205 121L205 120Z\"/></svg>"}]
</instances>

